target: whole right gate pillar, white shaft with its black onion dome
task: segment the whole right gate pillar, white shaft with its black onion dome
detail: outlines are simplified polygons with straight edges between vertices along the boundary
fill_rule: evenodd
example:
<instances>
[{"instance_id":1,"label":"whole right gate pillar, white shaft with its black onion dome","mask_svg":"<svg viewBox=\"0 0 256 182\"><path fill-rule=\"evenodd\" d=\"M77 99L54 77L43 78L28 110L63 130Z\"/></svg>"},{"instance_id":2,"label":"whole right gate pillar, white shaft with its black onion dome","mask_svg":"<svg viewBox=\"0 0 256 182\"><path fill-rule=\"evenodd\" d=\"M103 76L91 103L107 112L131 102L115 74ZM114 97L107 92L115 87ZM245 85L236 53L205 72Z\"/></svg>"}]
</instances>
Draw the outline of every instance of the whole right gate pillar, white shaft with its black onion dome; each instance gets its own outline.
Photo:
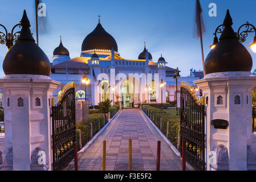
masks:
<instances>
[{"instance_id":1,"label":"whole right gate pillar, white shaft with its black onion dome","mask_svg":"<svg viewBox=\"0 0 256 182\"><path fill-rule=\"evenodd\" d=\"M241 43L246 36L236 34L229 10L217 27L217 41L204 61L205 76L194 81L207 106L207 169L247 170L250 158L252 90L256 76L251 74L253 59ZM239 30L238 30L239 32ZM217 38L217 33L221 33ZM215 43L215 42L214 42ZM251 159L250 159L251 160ZM255 163L255 158L252 159ZM256 168L255 168L256 169Z\"/></svg>"}]
</instances>

